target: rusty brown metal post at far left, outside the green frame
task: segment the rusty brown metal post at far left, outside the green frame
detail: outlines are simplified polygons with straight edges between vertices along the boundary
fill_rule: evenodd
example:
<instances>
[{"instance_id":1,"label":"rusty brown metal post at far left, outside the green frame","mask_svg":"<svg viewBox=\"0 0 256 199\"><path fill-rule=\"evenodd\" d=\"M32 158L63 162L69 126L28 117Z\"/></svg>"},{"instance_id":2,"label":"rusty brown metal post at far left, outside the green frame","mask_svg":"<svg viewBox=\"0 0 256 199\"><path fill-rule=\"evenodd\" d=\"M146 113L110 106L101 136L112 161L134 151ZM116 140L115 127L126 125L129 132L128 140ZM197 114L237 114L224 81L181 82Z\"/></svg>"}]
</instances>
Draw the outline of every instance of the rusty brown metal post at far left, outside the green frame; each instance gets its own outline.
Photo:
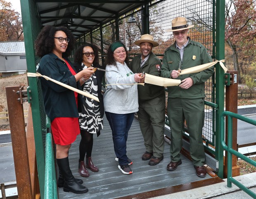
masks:
<instances>
[{"instance_id":1,"label":"rusty brown metal post at far left, outside the green frame","mask_svg":"<svg viewBox=\"0 0 256 199\"><path fill-rule=\"evenodd\" d=\"M23 105L18 101L20 86L6 87L12 151L19 199L32 197Z\"/></svg>"}]
</instances>

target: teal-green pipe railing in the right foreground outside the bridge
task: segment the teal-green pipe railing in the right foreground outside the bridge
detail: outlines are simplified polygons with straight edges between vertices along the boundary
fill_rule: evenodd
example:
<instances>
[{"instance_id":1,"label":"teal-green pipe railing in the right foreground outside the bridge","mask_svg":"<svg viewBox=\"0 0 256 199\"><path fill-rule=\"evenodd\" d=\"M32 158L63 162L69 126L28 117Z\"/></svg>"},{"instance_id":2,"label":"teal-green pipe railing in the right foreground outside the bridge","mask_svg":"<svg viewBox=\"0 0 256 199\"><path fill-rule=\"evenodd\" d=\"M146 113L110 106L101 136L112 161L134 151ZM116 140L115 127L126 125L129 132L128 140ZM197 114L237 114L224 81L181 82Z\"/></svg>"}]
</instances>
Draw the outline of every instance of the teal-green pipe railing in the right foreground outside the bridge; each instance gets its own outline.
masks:
<instances>
[{"instance_id":1,"label":"teal-green pipe railing in the right foreground outside the bridge","mask_svg":"<svg viewBox=\"0 0 256 199\"><path fill-rule=\"evenodd\" d=\"M232 183L233 183L234 185L239 187L241 190L246 192L249 196L256 198L256 193L249 190L247 187L245 187L240 182L235 180L235 178L232 178L232 154L237 156L238 158L241 158L242 160L246 161L247 163L250 163L251 165L256 166L256 161L253 161L252 159L249 159L247 156L244 156L243 154L237 152L235 149L232 149L233 118L237 118L241 121L250 123L254 126L256 126L256 120L241 116L239 114L232 113L230 111L224 111L221 116L222 116L221 123L220 123L221 146L223 147L224 150L226 150L228 152L228 174L227 174L228 187L232 187ZM225 143L225 116L228 116L228 146Z\"/></svg>"}]
</instances>

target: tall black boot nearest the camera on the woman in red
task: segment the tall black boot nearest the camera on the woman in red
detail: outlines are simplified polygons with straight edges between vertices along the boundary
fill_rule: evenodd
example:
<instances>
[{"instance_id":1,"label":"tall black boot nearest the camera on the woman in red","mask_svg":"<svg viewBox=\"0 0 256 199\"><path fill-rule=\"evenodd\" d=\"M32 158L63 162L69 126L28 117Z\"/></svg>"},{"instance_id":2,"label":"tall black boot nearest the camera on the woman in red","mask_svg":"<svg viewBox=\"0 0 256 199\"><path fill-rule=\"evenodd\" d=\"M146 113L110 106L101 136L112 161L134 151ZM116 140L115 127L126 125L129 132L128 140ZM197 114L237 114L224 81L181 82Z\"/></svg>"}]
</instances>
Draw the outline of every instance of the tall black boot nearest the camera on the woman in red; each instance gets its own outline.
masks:
<instances>
[{"instance_id":1,"label":"tall black boot nearest the camera on the woman in red","mask_svg":"<svg viewBox=\"0 0 256 199\"><path fill-rule=\"evenodd\" d=\"M64 192L73 192L75 194L84 194L88 192L88 189L79 184L74 176L72 175L72 172L69 168L69 158L62 158L62 159L56 159L57 164L59 166L59 171L65 178L63 191Z\"/></svg>"}]
</instances>

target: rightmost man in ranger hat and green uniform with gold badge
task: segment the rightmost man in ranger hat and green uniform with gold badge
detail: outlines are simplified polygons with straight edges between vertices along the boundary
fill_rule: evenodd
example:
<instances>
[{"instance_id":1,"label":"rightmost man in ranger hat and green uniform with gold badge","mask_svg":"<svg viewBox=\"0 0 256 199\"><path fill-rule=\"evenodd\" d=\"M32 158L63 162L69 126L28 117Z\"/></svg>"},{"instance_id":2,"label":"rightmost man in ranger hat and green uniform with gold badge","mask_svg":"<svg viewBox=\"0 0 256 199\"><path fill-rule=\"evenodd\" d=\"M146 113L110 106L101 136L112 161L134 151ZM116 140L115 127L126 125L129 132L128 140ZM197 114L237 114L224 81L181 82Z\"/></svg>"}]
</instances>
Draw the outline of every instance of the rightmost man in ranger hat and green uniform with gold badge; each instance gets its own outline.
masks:
<instances>
[{"instance_id":1,"label":"rightmost man in ranger hat and green uniform with gold badge","mask_svg":"<svg viewBox=\"0 0 256 199\"><path fill-rule=\"evenodd\" d=\"M204 82L214 72L214 67L197 73L180 75L180 70L212 62L206 48L187 36L188 25L184 17L176 17L172 28L175 43L164 52L161 77L180 79L178 86L168 87L168 119L171 127L171 162L167 170L174 171L181 164L183 123L186 120L190 135L190 155L197 176L204 178L204 145L202 129L204 126Z\"/></svg>"}]
</instances>

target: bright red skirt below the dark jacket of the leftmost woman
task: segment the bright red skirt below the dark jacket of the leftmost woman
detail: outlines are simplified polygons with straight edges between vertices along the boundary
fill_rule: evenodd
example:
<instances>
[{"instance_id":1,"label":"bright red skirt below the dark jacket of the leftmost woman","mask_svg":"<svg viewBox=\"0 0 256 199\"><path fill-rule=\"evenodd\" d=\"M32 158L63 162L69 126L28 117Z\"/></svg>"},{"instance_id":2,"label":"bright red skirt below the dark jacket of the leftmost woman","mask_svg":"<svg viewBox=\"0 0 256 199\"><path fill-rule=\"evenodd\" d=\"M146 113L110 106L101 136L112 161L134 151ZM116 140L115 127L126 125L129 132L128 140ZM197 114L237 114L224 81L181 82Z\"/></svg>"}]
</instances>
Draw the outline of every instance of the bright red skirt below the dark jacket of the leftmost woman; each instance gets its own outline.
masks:
<instances>
[{"instance_id":1,"label":"bright red skirt below the dark jacket of the leftmost woman","mask_svg":"<svg viewBox=\"0 0 256 199\"><path fill-rule=\"evenodd\" d=\"M51 128L56 145L70 145L80 134L78 118L55 118L51 123Z\"/></svg>"}]
</instances>

